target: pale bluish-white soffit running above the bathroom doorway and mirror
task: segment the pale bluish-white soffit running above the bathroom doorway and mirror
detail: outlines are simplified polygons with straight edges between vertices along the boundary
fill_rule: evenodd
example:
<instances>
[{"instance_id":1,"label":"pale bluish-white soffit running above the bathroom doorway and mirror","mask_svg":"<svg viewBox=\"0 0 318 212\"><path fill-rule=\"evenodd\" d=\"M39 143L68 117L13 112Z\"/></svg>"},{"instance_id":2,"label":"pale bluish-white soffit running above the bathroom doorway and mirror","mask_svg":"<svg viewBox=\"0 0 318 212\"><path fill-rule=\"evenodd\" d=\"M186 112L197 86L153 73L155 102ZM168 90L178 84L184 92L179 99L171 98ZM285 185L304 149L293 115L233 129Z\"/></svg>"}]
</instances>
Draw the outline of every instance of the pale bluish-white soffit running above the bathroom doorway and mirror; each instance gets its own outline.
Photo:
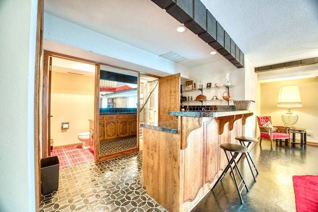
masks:
<instances>
[{"instance_id":1,"label":"pale bluish-white soffit running above the bathroom doorway and mirror","mask_svg":"<svg viewBox=\"0 0 318 212\"><path fill-rule=\"evenodd\" d=\"M151 71L152 74L158 76L179 72L181 76L187 76L189 72L189 68L180 64L175 64L157 55L98 34L48 13L44 13L43 37L46 39L44 40L43 48L57 53L145 73ZM52 44L52 42L54 45L48 45ZM79 50L74 51L74 47ZM88 54L87 51L90 53Z\"/></svg>"}]
</instances>

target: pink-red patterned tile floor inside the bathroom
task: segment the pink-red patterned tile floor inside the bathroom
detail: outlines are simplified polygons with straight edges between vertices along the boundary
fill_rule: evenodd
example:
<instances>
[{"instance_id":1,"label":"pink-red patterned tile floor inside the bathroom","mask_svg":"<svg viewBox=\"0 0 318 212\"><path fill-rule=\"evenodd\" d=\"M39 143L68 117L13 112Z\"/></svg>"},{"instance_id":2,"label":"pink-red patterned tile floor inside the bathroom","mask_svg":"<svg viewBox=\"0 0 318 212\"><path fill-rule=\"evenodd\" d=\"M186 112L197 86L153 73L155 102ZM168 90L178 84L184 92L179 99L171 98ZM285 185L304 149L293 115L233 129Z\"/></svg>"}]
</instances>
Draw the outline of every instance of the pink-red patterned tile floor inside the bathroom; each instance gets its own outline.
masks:
<instances>
[{"instance_id":1,"label":"pink-red patterned tile floor inside the bathroom","mask_svg":"<svg viewBox=\"0 0 318 212\"><path fill-rule=\"evenodd\" d=\"M60 170L94 161L93 150L83 149L81 145L54 149L51 151L51 156L58 156Z\"/></svg>"}]
</instances>

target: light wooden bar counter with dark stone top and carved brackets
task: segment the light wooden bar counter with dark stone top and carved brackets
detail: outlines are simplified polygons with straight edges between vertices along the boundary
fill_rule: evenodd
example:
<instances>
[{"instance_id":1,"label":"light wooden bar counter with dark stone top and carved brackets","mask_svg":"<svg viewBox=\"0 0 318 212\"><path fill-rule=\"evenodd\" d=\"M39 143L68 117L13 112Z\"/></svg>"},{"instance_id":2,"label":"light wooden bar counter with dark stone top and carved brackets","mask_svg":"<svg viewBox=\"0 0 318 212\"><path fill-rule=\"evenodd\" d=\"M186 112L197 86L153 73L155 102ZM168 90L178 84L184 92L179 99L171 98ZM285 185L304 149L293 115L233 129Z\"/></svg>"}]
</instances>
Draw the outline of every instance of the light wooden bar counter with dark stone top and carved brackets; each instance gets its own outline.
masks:
<instances>
[{"instance_id":1,"label":"light wooden bar counter with dark stone top and carved brackets","mask_svg":"<svg viewBox=\"0 0 318 212\"><path fill-rule=\"evenodd\" d=\"M227 165L221 143L239 143L246 110L168 112L175 121L143 127L143 184L169 212L188 212L211 191Z\"/></svg>"}]
</instances>

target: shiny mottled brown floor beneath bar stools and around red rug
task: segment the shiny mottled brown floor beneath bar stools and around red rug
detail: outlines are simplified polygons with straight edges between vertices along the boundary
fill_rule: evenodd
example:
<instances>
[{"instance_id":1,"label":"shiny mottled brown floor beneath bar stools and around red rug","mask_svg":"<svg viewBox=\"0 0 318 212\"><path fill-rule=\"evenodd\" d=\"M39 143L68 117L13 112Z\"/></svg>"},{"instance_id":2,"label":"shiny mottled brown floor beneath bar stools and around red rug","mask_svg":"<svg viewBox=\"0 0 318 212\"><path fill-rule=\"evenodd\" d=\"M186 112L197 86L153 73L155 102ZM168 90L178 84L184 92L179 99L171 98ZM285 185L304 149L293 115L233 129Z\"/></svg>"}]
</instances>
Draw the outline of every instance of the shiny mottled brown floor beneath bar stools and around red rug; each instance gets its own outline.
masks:
<instances>
[{"instance_id":1,"label":"shiny mottled brown floor beneath bar stools and around red rug","mask_svg":"<svg viewBox=\"0 0 318 212\"><path fill-rule=\"evenodd\" d=\"M191 212L296 212L294 175L318 175L318 146L291 148L263 140L250 151L259 174L254 182L246 158L239 161L249 192L244 188L240 204L234 178L228 172L212 192L207 194ZM238 176L238 175L237 175Z\"/></svg>"}]
</instances>

